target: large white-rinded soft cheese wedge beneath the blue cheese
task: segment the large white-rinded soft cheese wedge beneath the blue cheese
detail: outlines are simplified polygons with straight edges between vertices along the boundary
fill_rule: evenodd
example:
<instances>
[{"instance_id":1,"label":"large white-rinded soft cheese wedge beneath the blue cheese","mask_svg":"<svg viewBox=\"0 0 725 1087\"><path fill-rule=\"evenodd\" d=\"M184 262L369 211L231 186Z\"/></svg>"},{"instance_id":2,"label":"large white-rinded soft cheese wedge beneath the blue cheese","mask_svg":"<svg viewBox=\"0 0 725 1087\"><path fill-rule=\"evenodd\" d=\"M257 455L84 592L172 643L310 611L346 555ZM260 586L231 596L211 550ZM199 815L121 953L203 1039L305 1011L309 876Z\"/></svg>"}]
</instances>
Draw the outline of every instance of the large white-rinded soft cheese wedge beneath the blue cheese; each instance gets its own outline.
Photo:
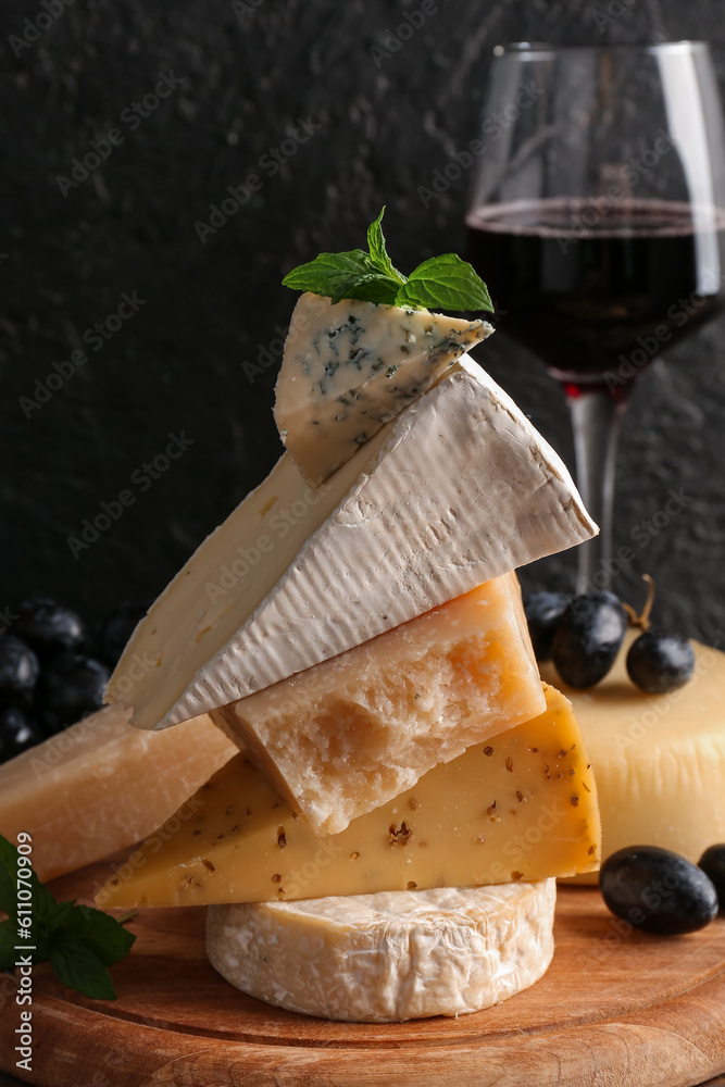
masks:
<instances>
[{"instance_id":1,"label":"large white-rinded soft cheese wedge beneath the blue cheese","mask_svg":"<svg viewBox=\"0 0 725 1087\"><path fill-rule=\"evenodd\" d=\"M595 532L557 453L463 359L320 489L285 454L153 605L107 698L175 724Z\"/></svg>"}]
</instances>

